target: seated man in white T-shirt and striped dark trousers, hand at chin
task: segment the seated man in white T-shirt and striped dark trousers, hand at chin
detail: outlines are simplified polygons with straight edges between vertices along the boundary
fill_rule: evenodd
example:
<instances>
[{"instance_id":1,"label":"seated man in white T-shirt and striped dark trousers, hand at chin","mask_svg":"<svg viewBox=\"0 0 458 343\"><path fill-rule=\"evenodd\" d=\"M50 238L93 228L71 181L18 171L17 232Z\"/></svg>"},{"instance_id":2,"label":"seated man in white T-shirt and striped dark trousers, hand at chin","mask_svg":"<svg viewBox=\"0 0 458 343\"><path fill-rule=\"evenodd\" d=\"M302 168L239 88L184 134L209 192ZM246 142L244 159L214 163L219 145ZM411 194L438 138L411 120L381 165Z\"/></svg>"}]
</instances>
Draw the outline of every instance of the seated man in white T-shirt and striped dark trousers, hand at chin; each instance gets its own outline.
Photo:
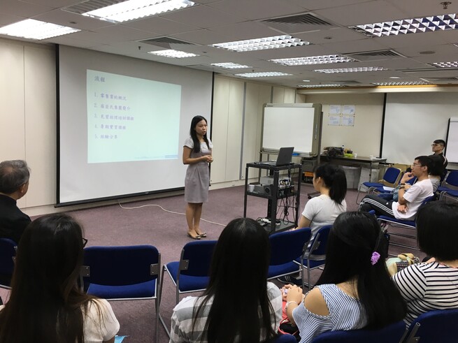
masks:
<instances>
[{"instance_id":1,"label":"seated man in white T-shirt and striped dark trousers, hand at chin","mask_svg":"<svg viewBox=\"0 0 458 343\"><path fill-rule=\"evenodd\" d=\"M401 220L414 220L418 207L428 196L433 195L433 185L428 177L430 165L431 158L428 156L416 157L412 164L412 171L405 173L401 179L397 202L394 200L387 201L375 194L369 194L359 204L359 210L364 212L375 210L377 215ZM417 182L413 186L406 186L406 182L413 177L417 177Z\"/></svg>"}]
</instances>

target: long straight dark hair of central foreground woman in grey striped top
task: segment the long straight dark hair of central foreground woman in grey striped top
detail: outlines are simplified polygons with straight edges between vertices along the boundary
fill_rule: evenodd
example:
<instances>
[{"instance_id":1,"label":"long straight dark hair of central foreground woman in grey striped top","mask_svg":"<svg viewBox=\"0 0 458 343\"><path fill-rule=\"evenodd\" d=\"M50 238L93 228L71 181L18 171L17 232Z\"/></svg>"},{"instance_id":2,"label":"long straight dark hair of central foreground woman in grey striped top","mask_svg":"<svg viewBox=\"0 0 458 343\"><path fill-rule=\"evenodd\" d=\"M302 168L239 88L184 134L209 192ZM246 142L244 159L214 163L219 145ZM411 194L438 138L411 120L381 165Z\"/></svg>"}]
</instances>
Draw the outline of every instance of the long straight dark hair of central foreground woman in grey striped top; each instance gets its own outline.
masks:
<instances>
[{"instance_id":1,"label":"long straight dark hair of central foreground woman in grey striped top","mask_svg":"<svg viewBox=\"0 0 458 343\"><path fill-rule=\"evenodd\" d=\"M204 330L208 343L232 343L237 336L240 343L255 343L262 332L264 340L275 337L267 295L269 261L269 237L257 221L241 218L227 224L215 247L210 282L193 315L194 328L213 298Z\"/></svg>"}]
</instances>

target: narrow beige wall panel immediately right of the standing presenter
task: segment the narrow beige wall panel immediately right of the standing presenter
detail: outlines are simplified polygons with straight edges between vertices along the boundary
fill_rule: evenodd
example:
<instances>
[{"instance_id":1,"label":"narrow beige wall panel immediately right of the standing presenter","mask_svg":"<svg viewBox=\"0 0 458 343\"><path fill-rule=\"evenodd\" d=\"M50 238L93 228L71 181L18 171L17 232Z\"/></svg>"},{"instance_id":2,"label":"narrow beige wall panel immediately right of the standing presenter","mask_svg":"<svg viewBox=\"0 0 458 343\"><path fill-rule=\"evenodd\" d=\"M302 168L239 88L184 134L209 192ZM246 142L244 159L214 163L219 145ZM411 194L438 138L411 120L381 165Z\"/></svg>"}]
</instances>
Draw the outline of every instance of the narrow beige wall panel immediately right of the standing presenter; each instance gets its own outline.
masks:
<instances>
[{"instance_id":1,"label":"narrow beige wall panel immediately right of the standing presenter","mask_svg":"<svg viewBox=\"0 0 458 343\"><path fill-rule=\"evenodd\" d=\"M213 93L211 182L224 182L226 177L227 121L230 79L216 76Z\"/></svg>"}]
</instances>

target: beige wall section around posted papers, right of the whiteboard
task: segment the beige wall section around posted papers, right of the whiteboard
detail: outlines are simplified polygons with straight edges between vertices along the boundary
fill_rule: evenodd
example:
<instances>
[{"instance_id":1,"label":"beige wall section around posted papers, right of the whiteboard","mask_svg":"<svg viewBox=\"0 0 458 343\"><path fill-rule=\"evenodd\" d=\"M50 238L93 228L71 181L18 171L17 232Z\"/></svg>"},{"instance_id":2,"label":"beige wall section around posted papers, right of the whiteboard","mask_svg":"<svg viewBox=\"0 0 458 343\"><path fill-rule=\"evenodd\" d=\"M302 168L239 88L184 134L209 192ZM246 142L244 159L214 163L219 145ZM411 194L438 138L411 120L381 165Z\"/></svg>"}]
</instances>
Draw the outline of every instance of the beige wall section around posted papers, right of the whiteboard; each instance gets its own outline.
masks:
<instances>
[{"instance_id":1,"label":"beige wall section around posted papers, right of the whiteboard","mask_svg":"<svg viewBox=\"0 0 458 343\"><path fill-rule=\"evenodd\" d=\"M378 156L383 94L310 94L306 102L323 105L322 147L345 145L359 156ZM328 125L329 105L355 105L355 126Z\"/></svg>"}]
</instances>

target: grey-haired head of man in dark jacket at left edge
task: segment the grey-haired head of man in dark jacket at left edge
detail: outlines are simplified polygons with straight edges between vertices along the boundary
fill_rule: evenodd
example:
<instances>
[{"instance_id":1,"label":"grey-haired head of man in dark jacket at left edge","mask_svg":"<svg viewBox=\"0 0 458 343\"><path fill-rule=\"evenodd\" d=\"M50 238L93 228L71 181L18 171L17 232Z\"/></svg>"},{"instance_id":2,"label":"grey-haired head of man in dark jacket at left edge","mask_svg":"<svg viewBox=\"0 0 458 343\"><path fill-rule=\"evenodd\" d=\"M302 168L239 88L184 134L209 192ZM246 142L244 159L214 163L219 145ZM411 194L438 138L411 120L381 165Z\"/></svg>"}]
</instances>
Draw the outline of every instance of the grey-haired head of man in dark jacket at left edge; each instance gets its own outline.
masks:
<instances>
[{"instance_id":1,"label":"grey-haired head of man in dark jacket at left edge","mask_svg":"<svg viewBox=\"0 0 458 343\"><path fill-rule=\"evenodd\" d=\"M29 189L30 171L27 162L20 159L0 163L0 193L22 198Z\"/></svg>"}]
</instances>

